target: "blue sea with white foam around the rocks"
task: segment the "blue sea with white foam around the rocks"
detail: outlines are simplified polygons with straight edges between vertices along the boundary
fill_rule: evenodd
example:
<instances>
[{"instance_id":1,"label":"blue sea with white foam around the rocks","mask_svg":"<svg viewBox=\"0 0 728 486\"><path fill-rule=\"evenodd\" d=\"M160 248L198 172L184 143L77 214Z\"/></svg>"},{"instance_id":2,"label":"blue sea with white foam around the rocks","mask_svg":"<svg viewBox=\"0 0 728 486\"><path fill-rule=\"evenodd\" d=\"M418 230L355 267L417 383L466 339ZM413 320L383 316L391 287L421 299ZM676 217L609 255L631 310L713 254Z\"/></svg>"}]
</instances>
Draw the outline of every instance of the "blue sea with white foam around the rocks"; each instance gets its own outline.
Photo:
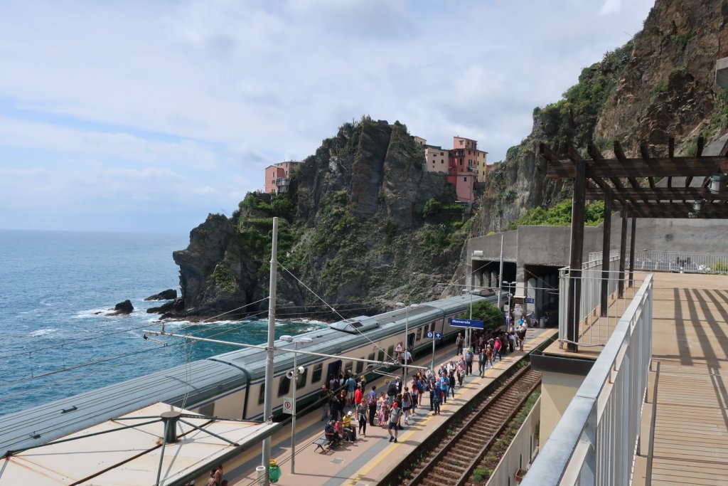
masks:
<instances>
[{"instance_id":1,"label":"blue sea with white foam around the rocks","mask_svg":"<svg viewBox=\"0 0 728 486\"><path fill-rule=\"evenodd\" d=\"M171 337L144 302L179 288L187 235L0 230L0 415L239 349ZM108 315L129 299L131 315ZM267 313L266 313L267 314ZM326 325L277 321L276 336ZM267 316L167 321L168 332L261 344Z\"/></svg>"}]
</instances>

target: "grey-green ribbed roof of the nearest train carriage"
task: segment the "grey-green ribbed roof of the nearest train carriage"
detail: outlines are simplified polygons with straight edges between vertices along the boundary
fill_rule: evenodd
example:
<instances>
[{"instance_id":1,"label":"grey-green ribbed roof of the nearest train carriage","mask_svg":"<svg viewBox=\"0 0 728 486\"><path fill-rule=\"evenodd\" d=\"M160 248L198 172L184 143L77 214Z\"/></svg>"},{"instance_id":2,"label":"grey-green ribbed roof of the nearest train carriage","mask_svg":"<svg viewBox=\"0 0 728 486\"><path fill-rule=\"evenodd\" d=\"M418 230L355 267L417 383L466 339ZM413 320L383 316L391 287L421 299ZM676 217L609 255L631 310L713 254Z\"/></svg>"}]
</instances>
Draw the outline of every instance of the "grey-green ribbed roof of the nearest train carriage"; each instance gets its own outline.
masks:
<instances>
[{"instance_id":1,"label":"grey-green ribbed roof of the nearest train carriage","mask_svg":"<svg viewBox=\"0 0 728 486\"><path fill-rule=\"evenodd\" d=\"M213 395L242 383L240 370L207 359L114 383L0 417L0 452L44 444L157 401L181 405L188 393Z\"/></svg>"}]
</instances>

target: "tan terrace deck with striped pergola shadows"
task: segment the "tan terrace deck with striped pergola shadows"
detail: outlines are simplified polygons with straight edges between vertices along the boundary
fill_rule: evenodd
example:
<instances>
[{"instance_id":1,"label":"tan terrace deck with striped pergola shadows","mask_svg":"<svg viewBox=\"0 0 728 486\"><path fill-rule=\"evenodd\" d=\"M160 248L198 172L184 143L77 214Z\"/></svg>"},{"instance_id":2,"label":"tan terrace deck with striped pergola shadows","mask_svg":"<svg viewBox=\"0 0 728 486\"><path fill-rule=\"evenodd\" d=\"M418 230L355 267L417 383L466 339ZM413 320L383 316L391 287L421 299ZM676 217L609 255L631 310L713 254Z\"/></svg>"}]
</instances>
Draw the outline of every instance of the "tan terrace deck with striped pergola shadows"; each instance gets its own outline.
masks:
<instances>
[{"instance_id":1,"label":"tan terrace deck with striped pergola shadows","mask_svg":"<svg viewBox=\"0 0 728 486\"><path fill-rule=\"evenodd\" d=\"M656 273L635 485L728 485L728 277Z\"/></svg>"}]
</instances>

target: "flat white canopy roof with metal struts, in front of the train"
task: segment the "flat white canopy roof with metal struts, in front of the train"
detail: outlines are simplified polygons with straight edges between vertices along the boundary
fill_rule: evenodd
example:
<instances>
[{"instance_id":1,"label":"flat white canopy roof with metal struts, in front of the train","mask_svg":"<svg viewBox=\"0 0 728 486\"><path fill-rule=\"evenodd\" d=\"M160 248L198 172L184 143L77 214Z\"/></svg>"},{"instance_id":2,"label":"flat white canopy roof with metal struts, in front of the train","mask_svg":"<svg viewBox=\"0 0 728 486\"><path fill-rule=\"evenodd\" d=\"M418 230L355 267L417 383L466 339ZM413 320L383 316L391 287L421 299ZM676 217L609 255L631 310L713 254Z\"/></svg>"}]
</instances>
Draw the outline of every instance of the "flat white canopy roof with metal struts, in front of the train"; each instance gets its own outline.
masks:
<instances>
[{"instance_id":1,"label":"flat white canopy roof with metal struts, in front of the train","mask_svg":"<svg viewBox=\"0 0 728 486\"><path fill-rule=\"evenodd\" d=\"M150 423L149 417L170 409L197 415L161 402L144 407L63 437L76 440L7 456L0 465L0 484L151 486L157 484L161 461L160 486L186 485L280 428L280 424L185 418L204 430L178 423L178 442L165 444L162 454L164 426L161 420ZM103 431L108 433L90 435Z\"/></svg>"}]
</instances>

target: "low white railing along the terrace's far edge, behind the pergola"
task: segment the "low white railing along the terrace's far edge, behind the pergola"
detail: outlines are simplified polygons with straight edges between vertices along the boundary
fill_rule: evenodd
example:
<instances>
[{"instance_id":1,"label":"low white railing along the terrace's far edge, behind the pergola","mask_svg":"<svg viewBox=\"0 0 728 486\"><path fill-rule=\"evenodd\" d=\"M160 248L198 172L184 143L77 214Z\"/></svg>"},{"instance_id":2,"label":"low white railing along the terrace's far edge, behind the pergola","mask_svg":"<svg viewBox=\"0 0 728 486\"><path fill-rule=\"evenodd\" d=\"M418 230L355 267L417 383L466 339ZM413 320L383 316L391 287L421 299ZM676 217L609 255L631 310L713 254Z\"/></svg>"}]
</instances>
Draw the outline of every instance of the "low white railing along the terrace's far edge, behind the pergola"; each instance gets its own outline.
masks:
<instances>
[{"instance_id":1,"label":"low white railing along the terrace's far edge, behind the pergola","mask_svg":"<svg viewBox=\"0 0 728 486\"><path fill-rule=\"evenodd\" d=\"M612 255L619 251L612 251ZM589 259L600 259L601 251L593 251ZM626 261L630 261L627 254ZM681 251L635 251L635 268L641 272L728 273L728 254L684 253Z\"/></svg>"}]
</instances>

